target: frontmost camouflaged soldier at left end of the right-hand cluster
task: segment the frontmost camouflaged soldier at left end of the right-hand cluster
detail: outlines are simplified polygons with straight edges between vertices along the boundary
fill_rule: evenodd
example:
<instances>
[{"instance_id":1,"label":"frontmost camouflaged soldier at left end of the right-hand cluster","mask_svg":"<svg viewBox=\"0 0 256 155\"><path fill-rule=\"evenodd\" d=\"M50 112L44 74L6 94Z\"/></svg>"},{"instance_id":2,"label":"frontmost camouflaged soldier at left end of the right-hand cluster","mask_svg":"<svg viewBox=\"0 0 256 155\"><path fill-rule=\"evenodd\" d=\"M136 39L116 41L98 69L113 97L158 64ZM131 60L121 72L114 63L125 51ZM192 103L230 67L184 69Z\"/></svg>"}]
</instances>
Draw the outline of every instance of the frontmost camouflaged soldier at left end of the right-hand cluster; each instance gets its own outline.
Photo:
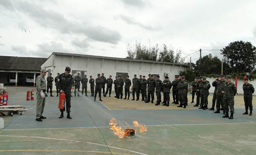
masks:
<instances>
[{"instance_id":1,"label":"frontmost camouflaged soldier at left end of the right-hand cluster","mask_svg":"<svg viewBox=\"0 0 256 155\"><path fill-rule=\"evenodd\" d=\"M208 83L206 81L205 76L202 79L203 79L203 82L201 82L198 86L198 89L200 90L202 106L198 109L206 110L207 106L208 106L207 98L208 98L208 95L209 95L210 83Z\"/></svg>"}]
</instances>

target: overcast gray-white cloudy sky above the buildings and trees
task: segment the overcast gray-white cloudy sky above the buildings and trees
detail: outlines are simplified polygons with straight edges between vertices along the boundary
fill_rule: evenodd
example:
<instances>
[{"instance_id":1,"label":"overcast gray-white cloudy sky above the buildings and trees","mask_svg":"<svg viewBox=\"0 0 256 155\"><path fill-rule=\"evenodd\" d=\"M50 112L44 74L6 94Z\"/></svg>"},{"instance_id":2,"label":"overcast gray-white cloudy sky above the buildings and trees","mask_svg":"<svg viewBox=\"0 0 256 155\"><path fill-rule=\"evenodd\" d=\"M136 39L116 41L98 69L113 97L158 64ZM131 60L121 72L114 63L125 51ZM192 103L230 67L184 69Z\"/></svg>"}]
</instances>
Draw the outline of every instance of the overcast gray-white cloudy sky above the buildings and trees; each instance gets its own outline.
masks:
<instances>
[{"instance_id":1,"label":"overcast gray-white cloudy sky above the buildings and trees","mask_svg":"<svg viewBox=\"0 0 256 155\"><path fill-rule=\"evenodd\" d=\"M0 0L0 55L126 57L135 40L165 43L183 56L236 40L256 46L255 6L256 0ZM209 53L220 56L202 55Z\"/></svg>"}]
</instances>

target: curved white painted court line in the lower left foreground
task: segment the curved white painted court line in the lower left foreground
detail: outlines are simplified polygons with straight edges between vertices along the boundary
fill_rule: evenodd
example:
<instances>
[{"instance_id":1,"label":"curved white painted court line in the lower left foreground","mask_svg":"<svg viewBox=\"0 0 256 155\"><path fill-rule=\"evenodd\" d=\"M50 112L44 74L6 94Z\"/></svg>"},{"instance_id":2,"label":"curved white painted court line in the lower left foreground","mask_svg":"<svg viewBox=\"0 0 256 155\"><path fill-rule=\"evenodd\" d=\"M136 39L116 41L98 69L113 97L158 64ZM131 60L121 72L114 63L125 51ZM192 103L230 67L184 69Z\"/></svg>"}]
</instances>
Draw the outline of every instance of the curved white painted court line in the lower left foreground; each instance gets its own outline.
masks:
<instances>
[{"instance_id":1,"label":"curved white painted court line in the lower left foreground","mask_svg":"<svg viewBox=\"0 0 256 155\"><path fill-rule=\"evenodd\" d=\"M86 143L86 144L93 144L93 145L98 145L98 146L111 147L113 149L120 149L120 150L124 150L124 151L129 151L129 152L137 153L139 155L148 155L148 154L132 151L132 150L129 150L129 149L122 149L122 148L114 147L114 146L107 146L107 145L103 145L103 144L97 144L97 143L91 143L91 142L82 142L82 141L76 141L76 140L67 140L67 139L58 139L58 138L47 138L47 137L35 137L35 136L19 136L19 135L0 135L0 137L23 137L23 138L51 139L51 140L59 140L59 141L73 141L73 142L78 142L78 143Z\"/></svg>"}]
</instances>

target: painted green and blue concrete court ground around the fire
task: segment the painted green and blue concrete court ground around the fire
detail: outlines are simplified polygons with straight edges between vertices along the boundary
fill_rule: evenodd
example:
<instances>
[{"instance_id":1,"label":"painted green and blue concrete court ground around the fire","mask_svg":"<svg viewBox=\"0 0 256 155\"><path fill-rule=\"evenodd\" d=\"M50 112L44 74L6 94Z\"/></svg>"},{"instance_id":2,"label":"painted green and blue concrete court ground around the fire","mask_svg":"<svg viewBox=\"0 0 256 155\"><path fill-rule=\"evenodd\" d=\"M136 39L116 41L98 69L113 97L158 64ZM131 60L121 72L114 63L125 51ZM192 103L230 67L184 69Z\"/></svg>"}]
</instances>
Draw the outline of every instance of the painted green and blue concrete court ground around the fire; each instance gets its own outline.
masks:
<instances>
[{"instance_id":1,"label":"painted green and blue concrete court ground around the fire","mask_svg":"<svg viewBox=\"0 0 256 155\"><path fill-rule=\"evenodd\" d=\"M23 115L3 117L1 155L252 155L256 151L256 114L242 115L242 96L235 97L233 120L193 107L191 95L187 109L178 109L174 104L166 107L118 100L114 95L102 97L102 102L94 102L90 96L73 97L73 119L67 119L66 114L59 119L58 97L47 97L47 119L37 122L36 102L26 101L27 89L31 88L7 87L9 105L22 105L29 110ZM209 107L211 98L210 95ZM126 125L132 125L134 120L143 123L146 135L136 133L134 138L119 139L110 130L112 118L122 128L137 129Z\"/></svg>"}]
</instances>

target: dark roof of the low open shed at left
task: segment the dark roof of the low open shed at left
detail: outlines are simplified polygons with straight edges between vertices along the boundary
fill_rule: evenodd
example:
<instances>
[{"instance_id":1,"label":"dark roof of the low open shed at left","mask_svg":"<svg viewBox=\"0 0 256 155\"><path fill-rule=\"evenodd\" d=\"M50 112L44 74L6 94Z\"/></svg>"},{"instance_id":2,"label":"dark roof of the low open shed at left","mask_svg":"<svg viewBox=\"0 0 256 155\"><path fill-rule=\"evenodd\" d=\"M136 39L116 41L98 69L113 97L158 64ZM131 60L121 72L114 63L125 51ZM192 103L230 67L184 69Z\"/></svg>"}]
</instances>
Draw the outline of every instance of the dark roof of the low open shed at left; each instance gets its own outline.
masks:
<instances>
[{"instance_id":1,"label":"dark roof of the low open shed at left","mask_svg":"<svg viewBox=\"0 0 256 155\"><path fill-rule=\"evenodd\" d=\"M0 70L40 71L47 58L0 56Z\"/></svg>"}]
</instances>

